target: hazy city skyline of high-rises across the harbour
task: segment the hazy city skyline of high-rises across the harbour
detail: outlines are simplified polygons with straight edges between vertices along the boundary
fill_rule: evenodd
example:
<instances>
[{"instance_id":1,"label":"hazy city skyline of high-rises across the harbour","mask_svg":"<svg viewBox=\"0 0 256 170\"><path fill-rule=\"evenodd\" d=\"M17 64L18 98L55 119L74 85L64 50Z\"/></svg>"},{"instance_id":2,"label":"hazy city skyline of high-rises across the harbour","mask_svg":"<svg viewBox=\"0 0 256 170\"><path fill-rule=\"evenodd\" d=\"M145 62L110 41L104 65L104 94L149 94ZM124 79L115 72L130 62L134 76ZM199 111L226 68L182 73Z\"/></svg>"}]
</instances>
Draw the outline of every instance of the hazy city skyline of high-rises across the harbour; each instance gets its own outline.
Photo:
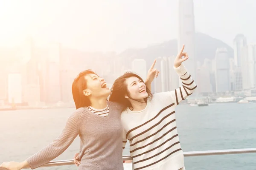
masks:
<instances>
[{"instance_id":1,"label":"hazy city skyline of high-rises across the harbour","mask_svg":"<svg viewBox=\"0 0 256 170\"><path fill-rule=\"evenodd\" d=\"M238 33L232 38L231 49L233 48L234 54L230 55L227 46L223 44L213 49L215 50L213 59L204 56L203 63L197 59L195 42L198 40L195 39L197 24L194 1L196 0L179 0L177 51L185 44L185 51L189 54L189 60L185 65L198 84L196 94L209 96L236 92L237 95L239 92L239 95L254 95L250 90L256 88L256 46L247 43L244 34ZM178 88L180 80L172 67L174 55L177 54L174 51L176 50L163 53L164 55L155 53L157 58L155 66L161 74L152 84L153 93ZM0 57L5 57L5 53L0 54ZM22 59L13 62L12 67L1 69L3 71L1 105L6 101L9 104L15 102L33 106L73 102L71 93L73 79L85 68L93 69L112 85L125 71L133 71L145 80L148 62L152 59L145 58L146 53L143 58L141 53L129 50L125 50L122 56L116 52L67 50L62 42L48 42L47 47L42 48L37 45L33 36L23 40L14 56ZM19 87L15 88L15 85Z\"/></svg>"}]
</instances>

